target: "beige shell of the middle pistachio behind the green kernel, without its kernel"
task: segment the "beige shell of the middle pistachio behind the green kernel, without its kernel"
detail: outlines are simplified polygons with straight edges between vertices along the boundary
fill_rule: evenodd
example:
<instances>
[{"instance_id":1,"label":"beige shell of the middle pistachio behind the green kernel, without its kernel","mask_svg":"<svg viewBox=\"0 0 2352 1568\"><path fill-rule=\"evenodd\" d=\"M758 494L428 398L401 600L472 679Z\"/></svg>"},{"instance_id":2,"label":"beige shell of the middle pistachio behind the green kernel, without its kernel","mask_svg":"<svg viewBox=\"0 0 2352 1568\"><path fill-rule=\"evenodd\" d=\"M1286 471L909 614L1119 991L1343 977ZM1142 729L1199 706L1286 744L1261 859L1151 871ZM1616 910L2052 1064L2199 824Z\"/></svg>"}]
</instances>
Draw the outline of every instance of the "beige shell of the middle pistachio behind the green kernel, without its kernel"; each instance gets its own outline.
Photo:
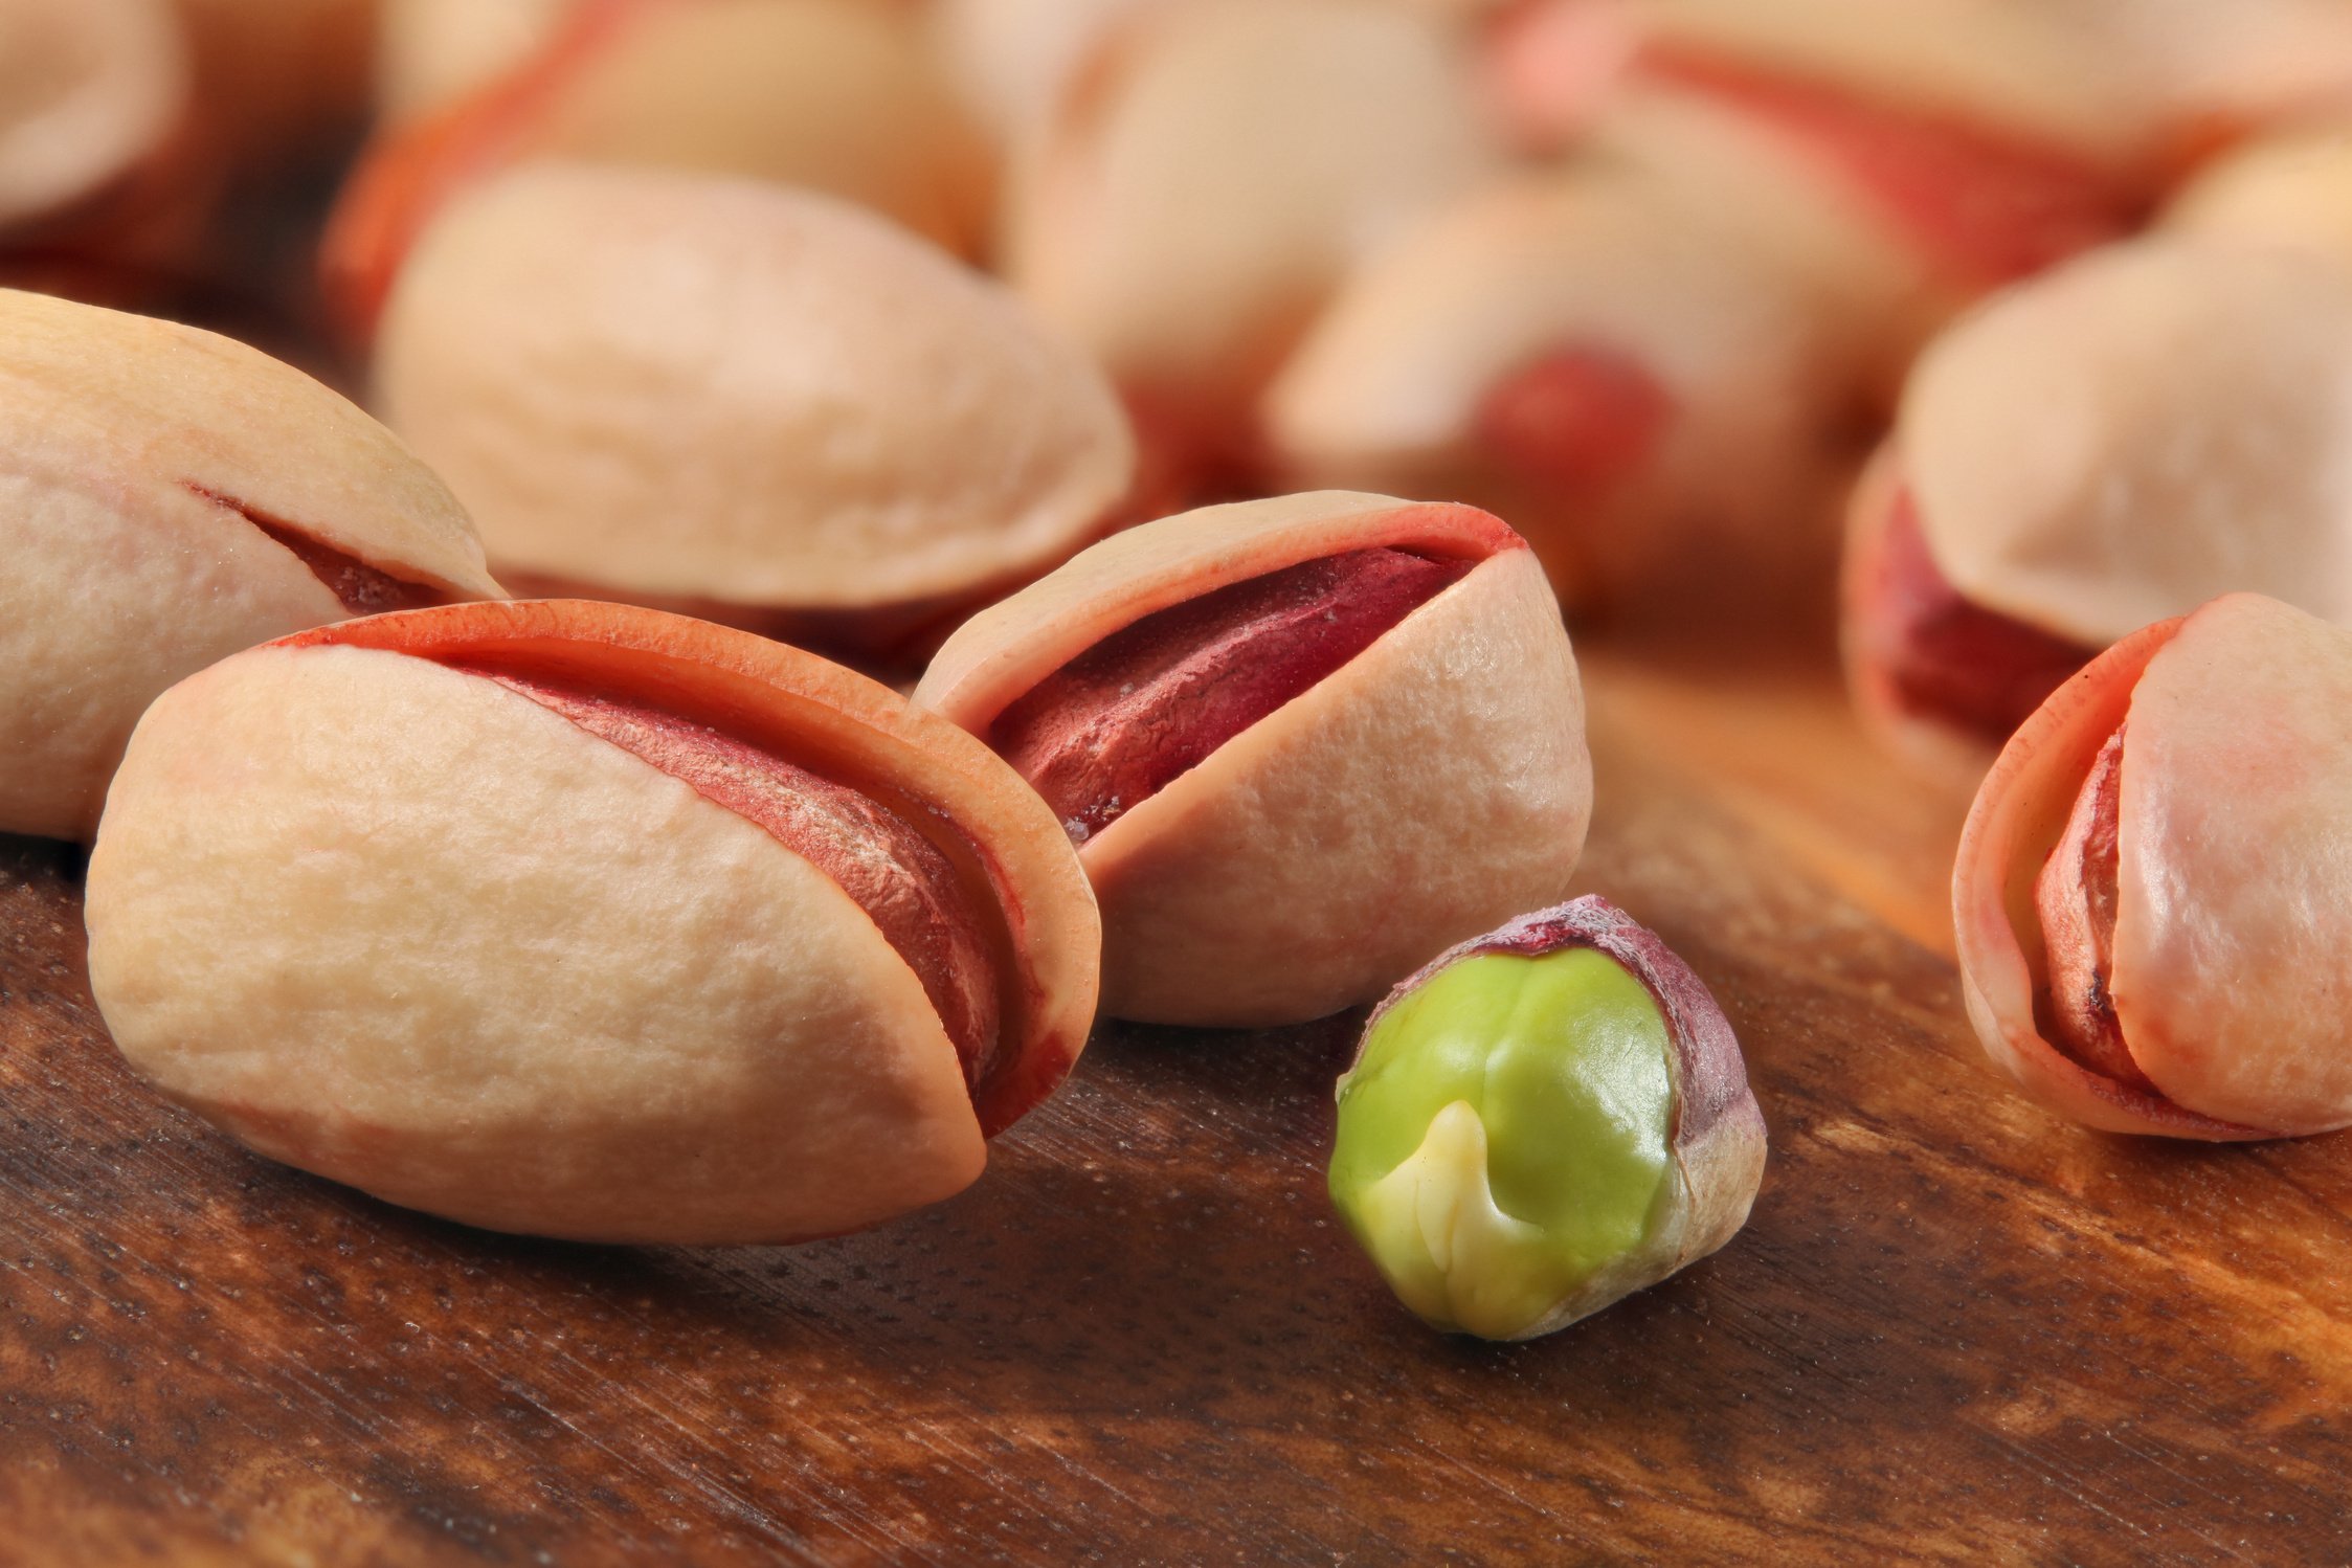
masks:
<instances>
[{"instance_id":1,"label":"beige shell of the middle pistachio behind the green kernel, without its kernel","mask_svg":"<svg viewBox=\"0 0 2352 1568\"><path fill-rule=\"evenodd\" d=\"M974 616L915 701L985 738L1155 609L1376 545L1479 564L1082 846L1108 1013L1319 1018L1566 893L1592 811L1576 658L1534 555L1470 508L1327 491L1143 524Z\"/></svg>"}]
</instances>

